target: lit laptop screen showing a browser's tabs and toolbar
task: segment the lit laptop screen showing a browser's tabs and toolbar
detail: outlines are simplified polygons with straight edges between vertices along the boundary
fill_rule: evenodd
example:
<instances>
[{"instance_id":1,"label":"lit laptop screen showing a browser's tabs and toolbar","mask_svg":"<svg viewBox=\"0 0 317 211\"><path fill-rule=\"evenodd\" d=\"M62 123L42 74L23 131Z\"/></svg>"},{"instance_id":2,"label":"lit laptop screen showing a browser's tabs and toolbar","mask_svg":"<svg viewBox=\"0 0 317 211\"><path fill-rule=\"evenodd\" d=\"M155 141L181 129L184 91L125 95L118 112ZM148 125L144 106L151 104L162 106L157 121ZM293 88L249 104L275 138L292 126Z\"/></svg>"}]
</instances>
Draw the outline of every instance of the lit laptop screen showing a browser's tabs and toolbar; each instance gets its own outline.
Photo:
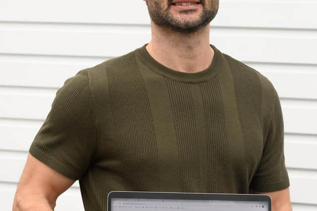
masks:
<instances>
[{"instance_id":1,"label":"lit laptop screen showing a browser's tabs and toolbar","mask_svg":"<svg viewBox=\"0 0 317 211\"><path fill-rule=\"evenodd\" d=\"M112 198L111 211L269 211L268 202Z\"/></svg>"}]
</instances>

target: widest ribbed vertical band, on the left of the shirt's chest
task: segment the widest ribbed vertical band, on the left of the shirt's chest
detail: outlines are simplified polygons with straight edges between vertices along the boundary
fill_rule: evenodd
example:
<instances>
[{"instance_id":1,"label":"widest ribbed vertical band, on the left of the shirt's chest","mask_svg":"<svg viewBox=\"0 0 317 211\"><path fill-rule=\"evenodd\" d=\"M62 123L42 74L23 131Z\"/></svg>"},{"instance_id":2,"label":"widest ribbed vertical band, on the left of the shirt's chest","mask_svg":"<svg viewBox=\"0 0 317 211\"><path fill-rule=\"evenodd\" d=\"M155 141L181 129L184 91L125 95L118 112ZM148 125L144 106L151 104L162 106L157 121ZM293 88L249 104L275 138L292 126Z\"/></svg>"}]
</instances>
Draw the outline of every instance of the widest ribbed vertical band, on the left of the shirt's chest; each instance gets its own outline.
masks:
<instances>
[{"instance_id":1,"label":"widest ribbed vertical band, on the left of the shirt's chest","mask_svg":"<svg viewBox=\"0 0 317 211\"><path fill-rule=\"evenodd\" d=\"M109 62L107 77L124 188L159 191L153 118L135 57L129 54Z\"/></svg>"}]
</instances>

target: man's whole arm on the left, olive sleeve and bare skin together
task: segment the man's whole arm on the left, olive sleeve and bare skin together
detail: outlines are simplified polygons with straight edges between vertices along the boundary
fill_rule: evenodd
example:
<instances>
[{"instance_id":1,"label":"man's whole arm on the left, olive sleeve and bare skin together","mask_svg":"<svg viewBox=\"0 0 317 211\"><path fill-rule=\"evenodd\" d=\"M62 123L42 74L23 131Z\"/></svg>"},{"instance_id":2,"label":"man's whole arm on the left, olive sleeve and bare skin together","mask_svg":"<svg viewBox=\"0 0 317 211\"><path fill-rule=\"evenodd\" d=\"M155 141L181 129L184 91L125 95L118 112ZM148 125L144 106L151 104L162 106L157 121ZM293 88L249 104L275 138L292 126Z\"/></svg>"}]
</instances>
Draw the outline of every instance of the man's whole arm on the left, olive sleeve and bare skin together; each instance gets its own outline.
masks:
<instances>
[{"instance_id":1,"label":"man's whole arm on the left, olive sleeve and bare skin together","mask_svg":"<svg viewBox=\"0 0 317 211\"><path fill-rule=\"evenodd\" d=\"M57 197L89 168L96 148L89 78L83 70L58 89L52 109L30 146L15 203L31 210L38 204L45 206L39 210L53 208Z\"/></svg>"}]
</instances>

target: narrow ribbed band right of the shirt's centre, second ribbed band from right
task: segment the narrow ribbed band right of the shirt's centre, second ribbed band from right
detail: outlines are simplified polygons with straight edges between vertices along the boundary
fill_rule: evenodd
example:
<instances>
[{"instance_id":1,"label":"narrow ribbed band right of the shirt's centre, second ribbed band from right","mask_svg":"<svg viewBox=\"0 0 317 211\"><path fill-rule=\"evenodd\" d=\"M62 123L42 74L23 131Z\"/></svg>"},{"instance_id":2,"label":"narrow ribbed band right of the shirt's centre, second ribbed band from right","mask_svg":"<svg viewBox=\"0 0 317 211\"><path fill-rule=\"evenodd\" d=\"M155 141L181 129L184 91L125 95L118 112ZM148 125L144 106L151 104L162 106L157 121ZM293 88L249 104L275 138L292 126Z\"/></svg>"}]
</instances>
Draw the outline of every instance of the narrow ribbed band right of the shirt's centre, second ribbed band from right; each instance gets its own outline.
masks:
<instances>
[{"instance_id":1,"label":"narrow ribbed band right of the shirt's centre, second ribbed band from right","mask_svg":"<svg viewBox=\"0 0 317 211\"><path fill-rule=\"evenodd\" d=\"M208 191L225 193L228 186L226 184L228 173L224 172L228 169L228 142L218 77L200 84L200 88L204 101L207 133Z\"/></svg>"}]
</instances>

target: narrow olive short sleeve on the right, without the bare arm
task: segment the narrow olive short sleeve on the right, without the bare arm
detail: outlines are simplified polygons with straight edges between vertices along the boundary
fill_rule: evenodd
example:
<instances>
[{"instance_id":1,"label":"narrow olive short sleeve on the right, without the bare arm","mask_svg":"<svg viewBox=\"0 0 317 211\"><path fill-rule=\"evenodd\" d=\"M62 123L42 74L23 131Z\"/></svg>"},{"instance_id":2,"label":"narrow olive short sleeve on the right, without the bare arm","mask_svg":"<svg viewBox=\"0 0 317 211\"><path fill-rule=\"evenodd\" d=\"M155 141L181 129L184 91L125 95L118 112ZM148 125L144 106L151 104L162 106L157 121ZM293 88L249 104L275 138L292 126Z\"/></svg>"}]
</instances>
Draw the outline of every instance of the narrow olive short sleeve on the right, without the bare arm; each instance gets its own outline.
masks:
<instances>
[{"instance_id":1,"label":"narrow olive short sleeve on the right, without the bare arm","mask_svg":"<svg viewBox=\"0 0 317 211\"><path fill-rule=\"evenodd\" d=\"M273 192L289 187L284 158L284 125L278 95L264 145L262 159L250 183L250 188L259 192Z\"/></svg>"}]
</instances>

